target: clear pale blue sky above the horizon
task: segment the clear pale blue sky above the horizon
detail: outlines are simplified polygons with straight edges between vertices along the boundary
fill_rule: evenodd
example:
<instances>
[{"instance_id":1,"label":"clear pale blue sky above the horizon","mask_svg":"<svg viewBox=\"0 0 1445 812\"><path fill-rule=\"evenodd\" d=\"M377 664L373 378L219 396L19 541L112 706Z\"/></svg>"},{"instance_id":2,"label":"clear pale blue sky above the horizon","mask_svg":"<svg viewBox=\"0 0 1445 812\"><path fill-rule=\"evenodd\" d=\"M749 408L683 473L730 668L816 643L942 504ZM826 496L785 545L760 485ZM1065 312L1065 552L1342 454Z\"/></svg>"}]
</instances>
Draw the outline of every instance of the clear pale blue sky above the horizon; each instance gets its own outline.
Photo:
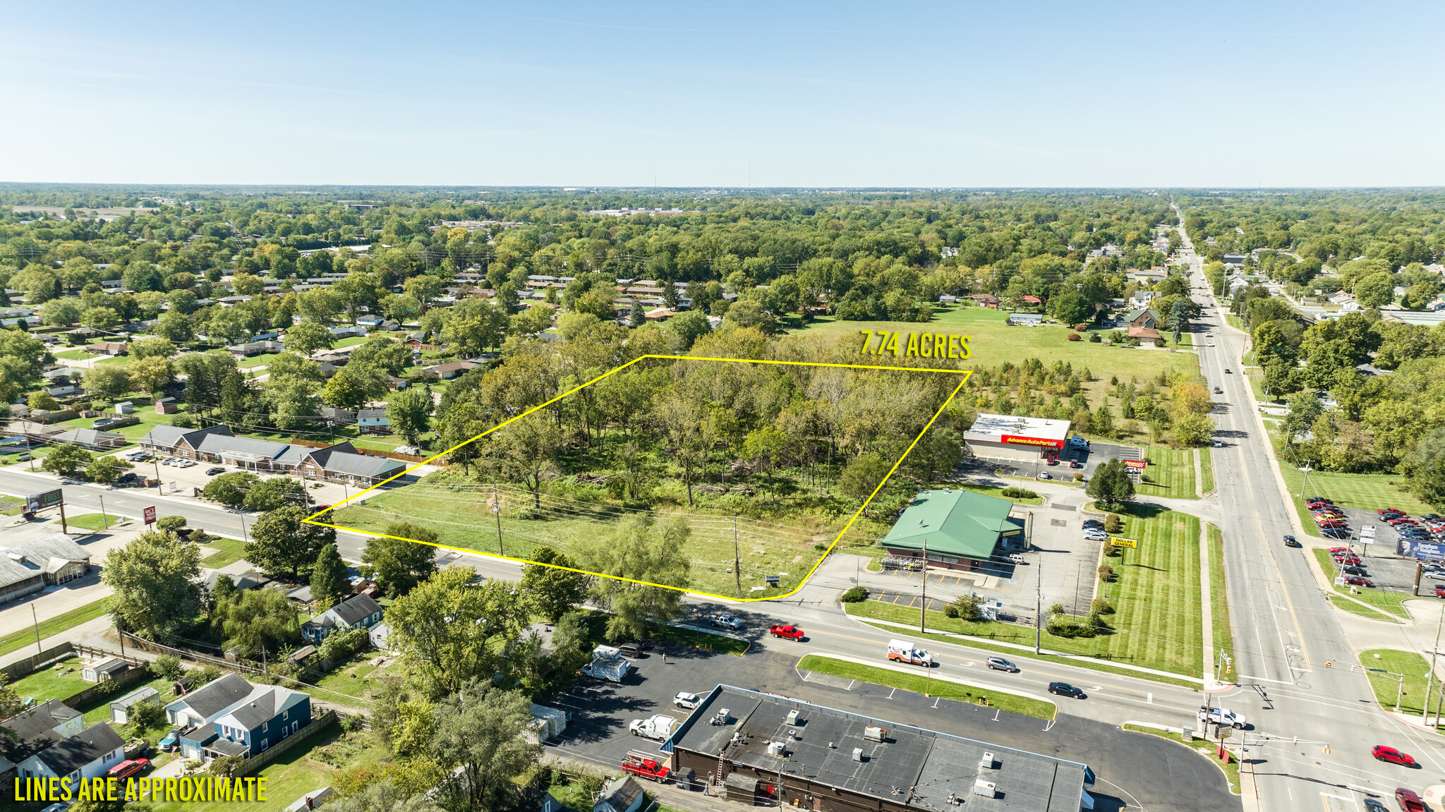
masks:
<instances>
[{"instance_id":1,"label":"clear pale blue sky above the horizon","mask_svg":"<svg viewBox=\"0 0 1445 812\"><path fill-rule=\"evenodd\" d=\"M1445 183L1445 3L10 3L0 181Z\"/></svg>"}]
</instances>

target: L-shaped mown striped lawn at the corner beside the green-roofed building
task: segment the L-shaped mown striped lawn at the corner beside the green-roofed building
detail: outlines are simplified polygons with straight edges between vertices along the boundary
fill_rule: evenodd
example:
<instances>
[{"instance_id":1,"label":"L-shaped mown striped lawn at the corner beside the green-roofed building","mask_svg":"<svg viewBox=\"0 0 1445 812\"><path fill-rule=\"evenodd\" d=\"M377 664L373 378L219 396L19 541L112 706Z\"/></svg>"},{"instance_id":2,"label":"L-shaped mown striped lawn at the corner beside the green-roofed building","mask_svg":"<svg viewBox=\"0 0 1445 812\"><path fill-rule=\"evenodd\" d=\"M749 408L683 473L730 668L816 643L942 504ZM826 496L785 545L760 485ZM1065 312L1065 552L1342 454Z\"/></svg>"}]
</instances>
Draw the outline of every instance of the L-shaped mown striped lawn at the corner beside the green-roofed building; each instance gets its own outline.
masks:
<instances>
[{"instance_id":1,"label":"L-shaped mown striped lawn at the corner beside the green-roofed building","mask_svg":"<svg viewBox=\"0 0 1445 812\"><path fill-rule=\"evenodd\" d=\"M1149 513L1126 522L1124 535L1139 539L1139 549L1108 559L1117 578L1103 585L1101 594L1114 607L1114 614L1105 616L1114 630L1097 637L1058 637L1045 630L1043 647L1198 678L1204 647L1199 520L1169 510ZM879 601L845 605L857 617L918 624L919 610ZM1033 629L1012 623L974 623L929 611L928 626L1033 646Z\"/></svg>"}]
</instances>

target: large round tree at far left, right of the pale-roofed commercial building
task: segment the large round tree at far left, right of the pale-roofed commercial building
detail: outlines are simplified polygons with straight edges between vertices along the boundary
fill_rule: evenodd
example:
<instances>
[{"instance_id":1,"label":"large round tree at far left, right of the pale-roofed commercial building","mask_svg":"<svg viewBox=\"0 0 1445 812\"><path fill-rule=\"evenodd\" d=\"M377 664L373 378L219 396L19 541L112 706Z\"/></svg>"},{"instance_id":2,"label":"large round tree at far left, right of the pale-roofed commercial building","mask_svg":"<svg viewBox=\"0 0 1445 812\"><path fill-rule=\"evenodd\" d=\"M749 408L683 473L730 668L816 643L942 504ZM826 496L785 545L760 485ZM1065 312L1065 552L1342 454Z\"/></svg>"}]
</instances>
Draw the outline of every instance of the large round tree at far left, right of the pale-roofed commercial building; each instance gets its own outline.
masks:
<instances>
[{"instance_id":1,"label":"large round tree at far left, right of the pale-roofed commercial building","mask_svg":"<svg viewBox=\"0 0 1445 812\"><path fill-rule=\"evenodd\" d=\"M150 530L105 553L100 579L114 591L111 614L152 640L189 626L201 611L201 552Z\"/></svg>"}]
</instances>

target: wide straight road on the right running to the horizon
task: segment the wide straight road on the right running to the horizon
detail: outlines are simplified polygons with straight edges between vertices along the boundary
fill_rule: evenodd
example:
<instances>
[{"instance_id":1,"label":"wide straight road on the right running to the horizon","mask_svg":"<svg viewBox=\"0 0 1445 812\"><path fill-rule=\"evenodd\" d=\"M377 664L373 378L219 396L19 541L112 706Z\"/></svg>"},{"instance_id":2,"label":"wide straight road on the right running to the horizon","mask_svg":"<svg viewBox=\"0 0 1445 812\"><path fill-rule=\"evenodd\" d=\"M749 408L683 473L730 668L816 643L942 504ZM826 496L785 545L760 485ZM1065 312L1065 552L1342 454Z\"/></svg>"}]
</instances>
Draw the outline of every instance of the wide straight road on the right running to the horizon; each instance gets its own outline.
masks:
<instances>
[{"instance_id":1,"label":"wide straight road on the right running to the horizon","mask_svg":"<svg viewBox=\"0 0 1445 812\"><path fill-rule=\"evenodd\" d=\"M1195 286L1208 290L1182 217L1179 233ZM1309 537L1292 522L1293 507L1273 470L1254 393L1240 368L1248 337L1225 325L1211 295L1194 298L1208 308L1201 321L1217 344L1199 347L1199 367L1211 390L1222 390L1214 396L1215 436L1224 442L1214 449L1214 478L1220 504L1227 506L1221 530L1238 688L1222 694L1221 702L1254 722L1246 741L1253 743L1247 757L1256 760L1259 808L1360 809L1363 795L1351 786L1386 796L1397 786L1420 790L1445 776L1441 737L1381 711L1364 673L1351 670L1354 650L1338 610L1327 602L1311 571L1309 548L1283 545L1286 535L1306 543ZM1374 744L1412 753L1423 770L1374 761Z\"/></svg>"}]
</instances>

